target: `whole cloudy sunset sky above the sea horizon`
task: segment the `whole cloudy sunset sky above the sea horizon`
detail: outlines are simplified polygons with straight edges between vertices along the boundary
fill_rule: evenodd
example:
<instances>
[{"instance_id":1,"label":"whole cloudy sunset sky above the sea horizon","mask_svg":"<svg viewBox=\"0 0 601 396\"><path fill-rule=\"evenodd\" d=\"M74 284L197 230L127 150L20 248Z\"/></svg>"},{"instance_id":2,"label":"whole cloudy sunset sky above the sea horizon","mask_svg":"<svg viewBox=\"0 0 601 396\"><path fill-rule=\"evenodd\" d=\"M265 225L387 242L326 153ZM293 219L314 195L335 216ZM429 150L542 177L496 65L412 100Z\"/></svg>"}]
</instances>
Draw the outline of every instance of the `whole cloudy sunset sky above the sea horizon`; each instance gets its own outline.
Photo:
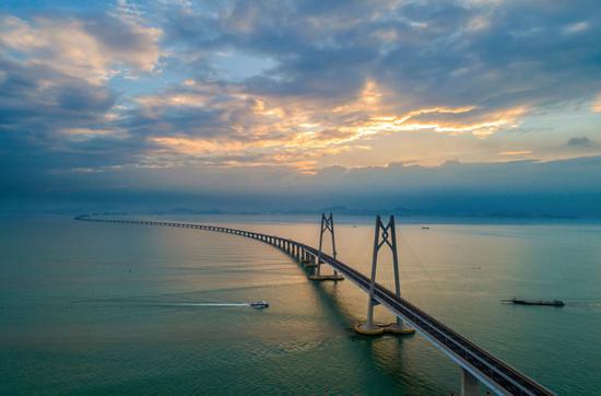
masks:
<instances>
[{"instance_id":1,"label":"whole cloudy sunset sky above the sea horizon","mask_svg":"<svg viewBox=\"0 0 601 396\"><path fill-rule=\"evenodd\" d=\"M0 201L601 217L599 1L0 3Z\"/></svg>"}]
</instances>

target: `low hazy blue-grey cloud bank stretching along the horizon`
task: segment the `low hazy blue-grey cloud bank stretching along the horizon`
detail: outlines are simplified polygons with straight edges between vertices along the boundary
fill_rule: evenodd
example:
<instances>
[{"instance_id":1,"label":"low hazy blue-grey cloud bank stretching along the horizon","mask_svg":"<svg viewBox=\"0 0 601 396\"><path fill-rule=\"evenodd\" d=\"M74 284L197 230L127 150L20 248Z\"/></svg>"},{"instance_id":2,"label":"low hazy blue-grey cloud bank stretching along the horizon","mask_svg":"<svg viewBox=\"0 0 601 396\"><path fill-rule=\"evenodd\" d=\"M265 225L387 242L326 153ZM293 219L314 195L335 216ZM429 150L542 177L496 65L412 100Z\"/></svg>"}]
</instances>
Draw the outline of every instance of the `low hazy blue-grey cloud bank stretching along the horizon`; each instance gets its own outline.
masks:
<instances>
[{"instance_id":1,"label":"low hazy blue-grey cloud bank stretching along the horizon","mask_svg":"<svg viewBox=\"0 0 601 396\"><path fill-rule=\"evenodd\" d=\"M223 161L240 161L225 156ZM241 161L245 161L244 159ZM222 210L317 210L330 206L406 214L601 217L601 158L506 163L448 162L441 166L341 166L298 174L273 166L184 168L142 165L55 172L7 179L8 198L93 201L132 210L185 206ZM36 183L31 183L31 180ZM57 186L70 186L69 189ZM111 186L107 189L106 186Z\"/></svg>"}]
</instances>

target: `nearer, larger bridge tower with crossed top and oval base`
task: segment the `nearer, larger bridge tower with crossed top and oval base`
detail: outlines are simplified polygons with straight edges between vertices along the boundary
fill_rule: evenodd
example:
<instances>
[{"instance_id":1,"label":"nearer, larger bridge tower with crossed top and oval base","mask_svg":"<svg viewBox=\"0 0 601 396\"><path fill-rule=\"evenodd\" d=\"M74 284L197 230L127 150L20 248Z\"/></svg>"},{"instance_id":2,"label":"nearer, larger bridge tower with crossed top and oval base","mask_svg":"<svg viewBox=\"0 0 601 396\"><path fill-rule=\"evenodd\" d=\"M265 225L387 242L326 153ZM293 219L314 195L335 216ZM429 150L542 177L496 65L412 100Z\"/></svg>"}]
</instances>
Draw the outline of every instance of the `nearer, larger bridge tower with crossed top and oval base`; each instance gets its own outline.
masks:
<instances>
[{"instance_id":1,"label":"nearer, larger bridge tower with crossed top and oval base","mask_svg":"<svg viewBox=\"0 0 601 396\"><path fill-rule=\"evenodd\" d=\"M384 245L388 245L392 253L392 268L394 270L394 293L397 298L401 296L401 279L399 273L399 254L397 249L397 230L394 228L394 217L391 216L388 224L384 225L381 218L376 218L376 230L374 234L374 253L372 257L372 278L369 281L369 301L367 303L367 322L355 326L355 331L364 335L375 336L382 333L413 334L415 329L404 324L400 316L397 322L388 325L377 325L374 323L374 306L378 304L374 300L376 289L376 272L378 266L378 253Z\"/></svg>"}]
</instances>

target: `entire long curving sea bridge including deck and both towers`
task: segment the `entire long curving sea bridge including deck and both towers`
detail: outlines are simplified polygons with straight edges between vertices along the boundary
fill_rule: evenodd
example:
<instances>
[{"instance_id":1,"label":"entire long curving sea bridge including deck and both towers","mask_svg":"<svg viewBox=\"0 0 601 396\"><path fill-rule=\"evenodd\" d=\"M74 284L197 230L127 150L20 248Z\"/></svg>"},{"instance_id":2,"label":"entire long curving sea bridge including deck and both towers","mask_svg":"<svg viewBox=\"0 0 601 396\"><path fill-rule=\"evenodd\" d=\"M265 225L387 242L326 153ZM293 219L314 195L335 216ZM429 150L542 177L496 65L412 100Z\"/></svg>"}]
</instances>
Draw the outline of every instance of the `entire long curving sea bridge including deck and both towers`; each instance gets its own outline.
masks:
<instances>
[{"instance_id":1,"label":"entire long curving sea bridge including deck and both towers","mask_svg":"<svg viewBox=\"0 0 601 396\"><path fill-rule=\"evenodd\" d=\"M180 229L192 229L221 232L226 234L239 235L252 238L259 242L274 246L293 259L307 264L308 267L315 268L314 280L342 280L344 277L356 284L360 289L368 293L368 322L355 327L363 334L378 334L375 331L376 325L373 324L373 307L375 304L381 304L398 317L400 331L393 333L410 333L403 331L408 329L408 323L411 328L414 328L427 341L434 345L443 353L449 357L453 362L462 368L461 374L461 392L466 396L480 395L479 382L484 384L497 395L553 395L551 391L537 383L518 370L511 368L500 359L494 357L466 337L459 335L448 326L444 325L433 316L428 315L423 310L413 305L405 299L401 298L399 291L398 279L398 263L396 248L396 234L393 218L390 218L388 225L384 225L380 218L376 221L376 237L374 241L374 263L372 267L372 277L358 272L351 266L335 258L335 242L333 232L333 219L331 217L321 218L321 232L319 248L308 246L304 243L290 238L269 235L252 231L231 229L225 226L182 223L170 221L145 221L145 220L121 220L121 219L98 219L89 216L79 216L75 220L90 222L105 222L118 224L140 224L140 225L158 225ZM331 232L333 254L330 256L322 252L322 238L325 232ZM392 292L384 286L376 282L376 264L377 253L382 245L388 245L392 249L394 260L396 275L396 292ZM319 273L322 264L327 264L334 270L333 276L321 276ZM309 279L311 279L309 277ZM365 329L365 331L362 330ZM374 330L372 333L372 330Z\"/></svg>"}]
</instances>

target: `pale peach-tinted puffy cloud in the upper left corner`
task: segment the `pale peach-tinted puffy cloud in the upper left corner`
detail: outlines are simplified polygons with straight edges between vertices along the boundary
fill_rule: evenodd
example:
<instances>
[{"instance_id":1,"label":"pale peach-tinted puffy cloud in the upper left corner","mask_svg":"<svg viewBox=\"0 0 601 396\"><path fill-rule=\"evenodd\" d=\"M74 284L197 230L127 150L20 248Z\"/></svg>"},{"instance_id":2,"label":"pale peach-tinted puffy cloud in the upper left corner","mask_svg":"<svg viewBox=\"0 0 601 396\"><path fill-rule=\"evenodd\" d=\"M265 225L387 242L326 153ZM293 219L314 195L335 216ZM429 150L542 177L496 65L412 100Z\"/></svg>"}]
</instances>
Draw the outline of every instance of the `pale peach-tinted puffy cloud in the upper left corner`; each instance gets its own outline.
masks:
<instances>
[{"instance_id":1,"label":"pale peach-tinted puffy cloud in the upper left corner","mask_svg":"<svg viewBox=\"0 0 601 396\"><path fill-rule=\"evenodd\" d=\"M0 50L24 66L43 67L99 85L126 68L152 71L161 50L161 31L127 19L0 16Z\"/></svg>"}]
</instances>

